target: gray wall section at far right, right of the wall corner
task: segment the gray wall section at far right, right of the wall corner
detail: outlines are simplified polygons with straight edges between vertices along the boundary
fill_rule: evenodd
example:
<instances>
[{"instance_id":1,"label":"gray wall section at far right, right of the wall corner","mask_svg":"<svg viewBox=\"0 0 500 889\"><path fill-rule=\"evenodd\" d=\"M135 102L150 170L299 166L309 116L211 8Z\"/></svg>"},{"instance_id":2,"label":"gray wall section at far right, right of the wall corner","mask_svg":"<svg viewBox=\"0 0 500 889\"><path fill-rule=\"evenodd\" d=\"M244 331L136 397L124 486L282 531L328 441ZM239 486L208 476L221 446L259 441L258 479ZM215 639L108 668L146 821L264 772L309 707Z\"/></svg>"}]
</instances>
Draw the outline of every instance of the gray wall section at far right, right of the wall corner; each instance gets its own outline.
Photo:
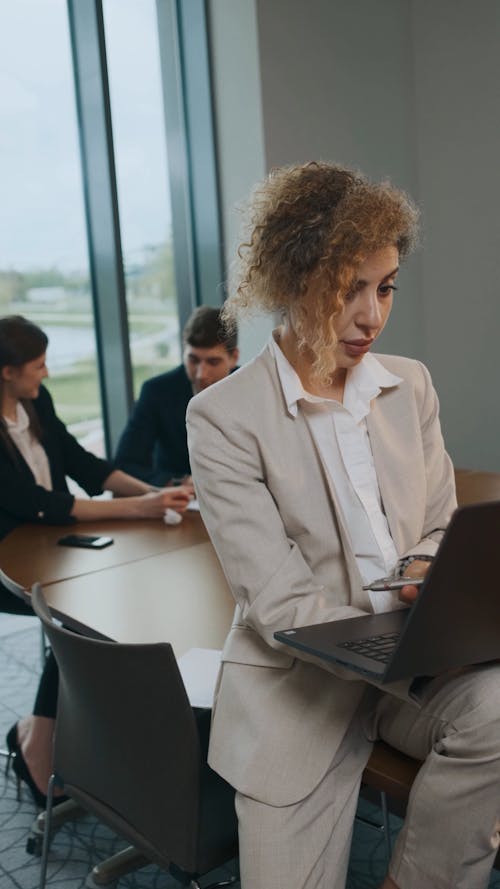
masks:
<instances>
[{"instance_id":1,"label":"gray wall section at far right, right of the wall corner","mask_svg":"<svg viewBox=\"0 0 500 889\"><path fill-rule=\"evenodd\" d=\"M422 354L456 465L500 469L500 3L415 0Z\"/></svg>"}]
</instances>

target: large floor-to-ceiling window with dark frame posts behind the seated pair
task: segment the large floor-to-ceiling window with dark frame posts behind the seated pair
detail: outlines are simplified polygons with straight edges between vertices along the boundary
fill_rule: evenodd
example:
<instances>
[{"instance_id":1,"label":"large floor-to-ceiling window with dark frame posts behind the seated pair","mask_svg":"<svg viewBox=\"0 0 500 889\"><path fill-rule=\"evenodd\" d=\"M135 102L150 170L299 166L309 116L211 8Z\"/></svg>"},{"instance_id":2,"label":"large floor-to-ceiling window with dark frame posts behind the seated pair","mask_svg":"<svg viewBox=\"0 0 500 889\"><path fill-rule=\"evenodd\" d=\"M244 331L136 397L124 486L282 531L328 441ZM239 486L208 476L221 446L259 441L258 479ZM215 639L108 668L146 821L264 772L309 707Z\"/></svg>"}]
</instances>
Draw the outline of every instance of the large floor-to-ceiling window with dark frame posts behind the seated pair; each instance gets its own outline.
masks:
<instances>
[{"instance_id":1,"label":"large floor-to-ceiling window with dark frame posts behind the seated pair","mask_svg":"<svg viewBox=\"0 0 500 889\"><path fill-rule=\"evenodd\" d=\"M0 114L0 311L46 330L58 413L111 455L220 301L204 0L5 3Z\"/></svg>"}]
</instances>

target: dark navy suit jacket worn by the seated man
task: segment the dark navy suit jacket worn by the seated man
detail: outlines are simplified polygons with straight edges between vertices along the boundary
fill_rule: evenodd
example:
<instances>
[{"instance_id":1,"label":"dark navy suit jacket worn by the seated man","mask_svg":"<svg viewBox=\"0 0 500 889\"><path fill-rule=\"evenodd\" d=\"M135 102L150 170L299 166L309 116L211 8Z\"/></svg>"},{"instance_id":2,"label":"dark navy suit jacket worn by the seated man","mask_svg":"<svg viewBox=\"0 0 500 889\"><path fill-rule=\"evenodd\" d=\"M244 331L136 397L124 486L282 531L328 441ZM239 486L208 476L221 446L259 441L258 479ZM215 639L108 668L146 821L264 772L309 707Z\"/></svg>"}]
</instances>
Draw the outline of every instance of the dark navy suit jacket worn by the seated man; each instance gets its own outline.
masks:
<instances>
[{"instance_id":1,"label":"dark navy suit jacket worn by the seated man","mask_svg":"<svg viewBox=\"0 0 500 889\"><path fill-rule=\"evenodd\" d=\"M118 443L115 466L160 486L190 475L186 409L192 397L182 364L146 380Z\"/></svg>"}]
</instances>

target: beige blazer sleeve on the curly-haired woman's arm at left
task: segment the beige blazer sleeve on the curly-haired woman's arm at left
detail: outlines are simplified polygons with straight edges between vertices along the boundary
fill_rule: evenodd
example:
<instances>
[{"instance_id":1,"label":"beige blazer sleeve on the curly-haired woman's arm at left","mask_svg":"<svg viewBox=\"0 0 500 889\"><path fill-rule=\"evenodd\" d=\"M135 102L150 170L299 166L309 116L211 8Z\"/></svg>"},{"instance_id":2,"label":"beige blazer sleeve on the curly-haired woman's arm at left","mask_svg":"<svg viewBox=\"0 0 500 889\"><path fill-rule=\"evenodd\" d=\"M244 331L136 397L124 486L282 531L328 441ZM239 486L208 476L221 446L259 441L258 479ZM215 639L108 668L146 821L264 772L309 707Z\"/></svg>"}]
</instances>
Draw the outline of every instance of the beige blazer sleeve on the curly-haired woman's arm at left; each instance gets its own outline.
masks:
<instances>
[{"instance_id":1,"label":"beige blazer sleeve on the curly-haired woman's arm at left","mask_svg":"<svg viewBox=\"0 0 500 889\"><path fill-rule=\"evenodd\" d=\"M224 408L214 409L212 397L203 396L190 402L187 413L193 479L242 627L251 627L268 646L284 652L273 637L278 629L363 614L335 605L332 591L317 580L297 542L287 537L266 485L256 433L235 424ZM319 663L303 652L294 654ZM324 662L320 666L330 670ZM332 667L331 672L345 676L341 669ZM356 677L352 673L347 678Z\"/></svg>"}]
</instances>

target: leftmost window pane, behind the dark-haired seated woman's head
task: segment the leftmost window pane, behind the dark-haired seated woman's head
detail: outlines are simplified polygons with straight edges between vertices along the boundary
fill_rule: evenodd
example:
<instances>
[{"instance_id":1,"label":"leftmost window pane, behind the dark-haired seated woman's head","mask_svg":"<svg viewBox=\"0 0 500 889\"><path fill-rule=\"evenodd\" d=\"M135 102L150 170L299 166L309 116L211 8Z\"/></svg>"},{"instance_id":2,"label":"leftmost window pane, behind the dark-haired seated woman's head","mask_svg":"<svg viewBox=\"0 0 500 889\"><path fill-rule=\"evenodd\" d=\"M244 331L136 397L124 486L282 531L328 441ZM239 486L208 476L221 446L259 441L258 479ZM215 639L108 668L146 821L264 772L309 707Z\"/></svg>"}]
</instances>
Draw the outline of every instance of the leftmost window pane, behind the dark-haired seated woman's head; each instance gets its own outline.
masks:
<instances>
[{"instance_id":1,"label":"leftmost window pane, behind the dark-haired seated woman's head","mask_svg":"<svg viewBox=\"0 0 500 889\"><path fill-rule=\"evenodd\" d=\"M95 453L103 431L65 0L2 5L0 312L50 343L59 416Z\"/></svg>"}]
</instances>

